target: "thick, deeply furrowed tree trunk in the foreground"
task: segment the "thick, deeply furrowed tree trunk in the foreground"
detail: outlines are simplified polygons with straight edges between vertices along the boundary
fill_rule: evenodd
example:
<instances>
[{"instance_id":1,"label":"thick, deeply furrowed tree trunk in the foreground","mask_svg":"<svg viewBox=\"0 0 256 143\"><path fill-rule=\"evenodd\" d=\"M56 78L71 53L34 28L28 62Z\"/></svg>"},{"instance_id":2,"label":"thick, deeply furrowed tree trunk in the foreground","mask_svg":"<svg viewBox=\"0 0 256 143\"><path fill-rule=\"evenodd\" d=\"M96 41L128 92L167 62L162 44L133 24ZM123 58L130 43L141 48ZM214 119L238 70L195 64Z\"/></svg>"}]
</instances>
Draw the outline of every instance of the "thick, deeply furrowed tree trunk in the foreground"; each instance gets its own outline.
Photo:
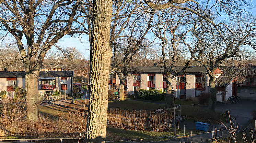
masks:
<instances>
[{"instance_id":1,"label":"thick, deeply furrowed tree trunk in the foreground","mask_svg":"<svg viewBox=\"0 0 256 143\"><path fill-rule=\"evenodd\" d=\"M90 98L86 125L87 143L104 143L107 127L109 46L112 1L93 1L90 56Z\"/></svg>"}]
</instances>

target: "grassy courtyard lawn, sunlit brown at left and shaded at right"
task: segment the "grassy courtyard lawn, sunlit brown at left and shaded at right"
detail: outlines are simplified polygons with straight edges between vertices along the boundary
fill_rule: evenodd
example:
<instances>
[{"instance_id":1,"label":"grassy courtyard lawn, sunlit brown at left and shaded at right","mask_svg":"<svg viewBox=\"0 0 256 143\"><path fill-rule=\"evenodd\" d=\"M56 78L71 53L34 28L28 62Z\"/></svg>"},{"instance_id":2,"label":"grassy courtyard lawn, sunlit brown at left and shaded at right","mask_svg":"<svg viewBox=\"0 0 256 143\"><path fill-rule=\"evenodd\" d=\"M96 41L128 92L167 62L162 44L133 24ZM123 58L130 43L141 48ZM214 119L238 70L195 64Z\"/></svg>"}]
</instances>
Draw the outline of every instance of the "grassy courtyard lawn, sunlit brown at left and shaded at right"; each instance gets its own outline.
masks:
<instances>
[{"instance_id":1,"label":"grassy courtyard lawn, sunlit brown at left and shaded at right","mask_svg":"<svg viewBox=\"0 0 256 143\"><path fill-rule=\"evenodd\" d=\"M83 113L85 102L85 110ZM185 101L187 102L187 101ZM82 134L85 133L86 128L86 115L88 112L88 100L73 100L74 104L67 105L51 105L51 106L39 106L40 114L42 115L43 124L39 124L38 127L31 127L26 125L26 122L22 119L18 121L10 122L10 127L5 129L9 132L10 136L19 138L78 138L79 132L82 126ZM108 109L127 109L127 110L147 110L155 111L159 108L165 109L165 103L161 101L141 101L141 100L125 100L125 101L108 101ZM206 113L206 109L201 109L198 106L183 105L182 115L185 115L188 119L198 119L201 117L201 113ZM193 114L192 114L193 113ZM84 115L84 117L83 117ZM82 120L83 118L83 120ZM206 120L206 116L200 118L200 120ZM2 124L4 118L1 118ZM15 123L15 124L13 124ZM4 127L5 125L1 125ZM142 139L142 138L154 138L172 136L171 131L149 131L146 130L134 130L134 129L119 129L114 128L112 125L107 125L107 140L125 140L125 139ZM176 133L178 134L178 129ZM183 134L184 131L180 130ZM193 133L199 133L201 131L193 130ZM185 134L191 134L190 130L185 130ZM54 135L54 136L53 136ZM84 137L84 136L83 136ZM82 137L82 138L83 138ZM161 141L167 140L166 138L148 140L148 141Z\"/></svg>"}]
</instances>

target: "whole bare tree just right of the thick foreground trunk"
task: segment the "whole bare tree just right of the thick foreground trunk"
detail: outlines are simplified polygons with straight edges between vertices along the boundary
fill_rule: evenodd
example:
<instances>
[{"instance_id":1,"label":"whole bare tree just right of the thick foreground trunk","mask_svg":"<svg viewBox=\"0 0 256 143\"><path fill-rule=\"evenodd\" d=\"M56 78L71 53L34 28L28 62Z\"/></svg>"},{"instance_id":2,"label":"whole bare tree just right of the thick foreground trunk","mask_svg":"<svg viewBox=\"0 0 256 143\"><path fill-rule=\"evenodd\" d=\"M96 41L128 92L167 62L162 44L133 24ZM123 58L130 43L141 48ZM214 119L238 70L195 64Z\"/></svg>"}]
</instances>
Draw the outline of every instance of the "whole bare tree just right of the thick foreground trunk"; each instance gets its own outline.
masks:
<instances>
[{"instance_id":1,"label":"whole bare tree just right of the thick foreground trunk","mask_svg":"<svg viewBox=\"0 0 256 143\"><path fill-rule=\"evenodd\" d=\"M113 11L110 46L113 47L114 61L110 72L115 71L118 75L120 80L119 101L123 101L125 100L125 81L128 75L127 67L136 52L143 46L148 46L148 44L144 44L146 43L144 41L152 26L154 14L151 13L148 17L147 13L142 11L139 2L136 3L131 0L114 1ZM117 27L120 28L117 30ZM119 56L117 56L118 54Z\"/></svg>"}]
</instances>

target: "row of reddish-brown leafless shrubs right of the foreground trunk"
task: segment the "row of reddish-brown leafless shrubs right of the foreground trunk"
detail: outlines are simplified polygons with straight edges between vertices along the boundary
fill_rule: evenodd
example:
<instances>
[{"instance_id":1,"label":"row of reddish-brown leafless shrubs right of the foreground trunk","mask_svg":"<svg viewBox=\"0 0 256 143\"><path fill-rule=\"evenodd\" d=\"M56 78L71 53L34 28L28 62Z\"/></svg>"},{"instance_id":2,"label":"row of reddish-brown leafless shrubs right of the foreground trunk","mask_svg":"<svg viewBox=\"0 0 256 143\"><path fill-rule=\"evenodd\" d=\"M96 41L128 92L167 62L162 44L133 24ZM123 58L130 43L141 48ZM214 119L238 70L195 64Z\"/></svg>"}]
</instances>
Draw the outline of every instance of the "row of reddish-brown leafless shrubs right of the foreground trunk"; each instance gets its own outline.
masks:
<instances>
[{"instance_id":1,"label":"row of reddish-brown leafless shrubs right of the foreground trunk","mask_svg":"<svg viewBox=\"0 0 256 143\"><path fill-rule=\"evenodd\" d=\"M167 112L154 115L153 112L148 114L146 110L130 111L121 110L120 108L108 110L108 123L115 128L170 130L172 118L173 115Z\"/></svg>"}]
</instances>

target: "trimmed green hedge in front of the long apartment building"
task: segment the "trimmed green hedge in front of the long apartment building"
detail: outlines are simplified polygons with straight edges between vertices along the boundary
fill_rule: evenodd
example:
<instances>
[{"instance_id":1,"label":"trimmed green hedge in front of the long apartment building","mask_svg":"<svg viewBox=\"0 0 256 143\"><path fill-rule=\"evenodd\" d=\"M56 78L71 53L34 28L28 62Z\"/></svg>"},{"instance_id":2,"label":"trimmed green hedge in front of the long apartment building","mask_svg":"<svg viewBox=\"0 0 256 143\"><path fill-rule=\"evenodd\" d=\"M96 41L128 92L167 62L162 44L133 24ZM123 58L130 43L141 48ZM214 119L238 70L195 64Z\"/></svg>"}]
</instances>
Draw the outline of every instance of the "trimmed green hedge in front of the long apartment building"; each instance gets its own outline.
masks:
<instances>
[{"instance_id":1,"label":"trimmed green hedge in front of the long apartment building","mask_svg":"<svg viewBox=\"0 0 256 143\"><path fill-rule=\"evenodd\" d=\"M162 90L139 90L139 98L144 97L146 100L164 100L165 92Z\"/></svg>"}]
</instances>

